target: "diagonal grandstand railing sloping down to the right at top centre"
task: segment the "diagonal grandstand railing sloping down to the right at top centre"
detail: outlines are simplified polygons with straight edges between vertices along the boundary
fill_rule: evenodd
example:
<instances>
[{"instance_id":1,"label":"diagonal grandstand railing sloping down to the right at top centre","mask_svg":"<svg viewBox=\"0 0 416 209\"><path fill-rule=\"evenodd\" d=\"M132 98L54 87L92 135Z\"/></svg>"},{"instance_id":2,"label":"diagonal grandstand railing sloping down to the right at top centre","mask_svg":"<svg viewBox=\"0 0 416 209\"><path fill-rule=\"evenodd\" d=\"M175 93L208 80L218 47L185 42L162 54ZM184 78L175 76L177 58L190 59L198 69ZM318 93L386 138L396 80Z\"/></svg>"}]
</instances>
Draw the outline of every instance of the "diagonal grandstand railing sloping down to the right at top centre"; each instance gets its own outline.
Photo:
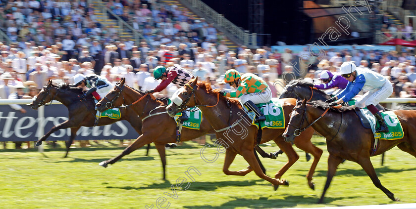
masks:
<instances>
[{"instance_id":1,"label":"diagonal grandstand railing sloping down to the right at top centre","mask_svg":"<svg viewBox=\"0 0 416 209\"><path fill-rule=\"evenodd\" d=\"M209 19L211 22L214 22L216 26L221 27L227 34L233 36L234 40L251 48L258 47L256 33L250 33L249 31L245 31L240 27L234 25L231 21L226 19L224 15L219 14L201 0L179 1L181 3L184 2L182 4L190 5L194 9L198 10L198 13L203 14L204 18Z\"/></svg>"}]
</instances>

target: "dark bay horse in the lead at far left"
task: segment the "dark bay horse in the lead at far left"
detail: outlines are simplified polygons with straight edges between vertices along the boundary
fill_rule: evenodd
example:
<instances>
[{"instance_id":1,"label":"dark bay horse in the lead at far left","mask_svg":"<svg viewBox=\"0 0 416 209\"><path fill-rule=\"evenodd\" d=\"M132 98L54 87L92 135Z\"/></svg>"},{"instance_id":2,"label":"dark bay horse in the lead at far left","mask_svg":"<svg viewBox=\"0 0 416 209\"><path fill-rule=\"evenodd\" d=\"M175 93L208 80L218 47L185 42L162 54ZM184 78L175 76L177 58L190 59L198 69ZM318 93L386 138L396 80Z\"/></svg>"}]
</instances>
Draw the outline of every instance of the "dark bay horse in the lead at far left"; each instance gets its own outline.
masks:
<instances>
[{"instance_id":1,"label":"dark bay horse in the lead at far left","mask_svg":"<svg viewBox=\"0 0 416 209\"><path fill-rule=\"evenodd\" d=\"M36 95L36 99L34 99L30 104L34 110L47 104L48 102L51 102L52 100L56 100L65 105L69 111L68 120L59 125L53 126L48 133L37 141L37 146L41 145L42 142L45 141L53 132L69 127L71 128L71 136L69 137L69 141L66 143L66 153L64 156L64 158L66 158L78 129L81 126L95 126L95 103L91 96L85 101L80 101L77 96L81 94L81 88L71 87L70 85L56 85L53 84L52 81L49 81L48 84L38 93L38 95ZM120 111L121 118L119 120L104 117L98 121L97 125L109 125L117 121L125 120L128 121L139 134L142 134L142 120L140 120L137 114L135 114L132 110L120 109Z\"/></svg>"}]
</instances>

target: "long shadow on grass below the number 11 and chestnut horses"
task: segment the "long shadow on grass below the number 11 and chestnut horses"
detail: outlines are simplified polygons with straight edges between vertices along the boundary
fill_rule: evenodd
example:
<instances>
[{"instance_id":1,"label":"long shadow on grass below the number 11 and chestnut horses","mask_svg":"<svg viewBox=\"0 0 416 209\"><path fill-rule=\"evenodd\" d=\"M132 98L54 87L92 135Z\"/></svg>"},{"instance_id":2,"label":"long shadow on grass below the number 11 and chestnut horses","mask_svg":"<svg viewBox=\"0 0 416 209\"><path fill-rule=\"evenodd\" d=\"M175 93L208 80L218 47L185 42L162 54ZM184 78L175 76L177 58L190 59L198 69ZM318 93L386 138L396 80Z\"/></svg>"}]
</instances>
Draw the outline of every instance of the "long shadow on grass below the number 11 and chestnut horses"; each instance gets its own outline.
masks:
<instances>
[{"instance_id":1,"label":"long shadow on grass below the number 11 and chestnut horses","mask_svg":"<svg viewBox=\"0 0 416 209\"><path fill-rule=\"evenodd\" d=\"M246 181L219 181L219 182L190 182L191 186L187 189L190 191L213 191L216 190L219 187L226 187L226 186L252 186L256 185L256 182L262 182L263 179L256 179L256 180L246 180ZM173 182L175 183L175 182ZM154 183L148 186L142 186L142 187L132 187L132 186L107 186L107 189L126 189L126 190L142 190L142 189L169 189L172 183L170 183L168 180L164 181L163 183ZM266 187L267 188L267 187ZM175 189L177 187L175 186ZM272 187L269 187L270 190L272 190Z\"/></svg>"}]
</instances>

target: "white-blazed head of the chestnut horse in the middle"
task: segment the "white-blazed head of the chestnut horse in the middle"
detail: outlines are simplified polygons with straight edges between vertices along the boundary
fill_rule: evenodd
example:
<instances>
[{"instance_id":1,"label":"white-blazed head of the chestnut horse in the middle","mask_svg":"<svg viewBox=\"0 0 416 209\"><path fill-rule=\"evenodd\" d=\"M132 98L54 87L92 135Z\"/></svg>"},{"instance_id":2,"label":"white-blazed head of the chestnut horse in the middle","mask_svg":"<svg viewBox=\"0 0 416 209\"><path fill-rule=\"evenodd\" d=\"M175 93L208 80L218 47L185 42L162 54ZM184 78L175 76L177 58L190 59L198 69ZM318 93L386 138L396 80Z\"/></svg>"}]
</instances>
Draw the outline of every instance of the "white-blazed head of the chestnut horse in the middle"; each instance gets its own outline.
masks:
<instances>
[{"instance_id":1,"label":"white-blazed head of the chestnut horse in the middle","mask_svg":"<svg viewBox=\"0 0 416 209\"><path fill-rule=\"evenodd\" d=\"M188 107L194 107L197 105L197 99L195 95L196 91L199 90L197 82L198 77L175 91L171 98L172 103L166 107L167 114L173 117L176 113L179 113ZM192 97L194 99L191 99Z\"/></svg>"}]
</instances>

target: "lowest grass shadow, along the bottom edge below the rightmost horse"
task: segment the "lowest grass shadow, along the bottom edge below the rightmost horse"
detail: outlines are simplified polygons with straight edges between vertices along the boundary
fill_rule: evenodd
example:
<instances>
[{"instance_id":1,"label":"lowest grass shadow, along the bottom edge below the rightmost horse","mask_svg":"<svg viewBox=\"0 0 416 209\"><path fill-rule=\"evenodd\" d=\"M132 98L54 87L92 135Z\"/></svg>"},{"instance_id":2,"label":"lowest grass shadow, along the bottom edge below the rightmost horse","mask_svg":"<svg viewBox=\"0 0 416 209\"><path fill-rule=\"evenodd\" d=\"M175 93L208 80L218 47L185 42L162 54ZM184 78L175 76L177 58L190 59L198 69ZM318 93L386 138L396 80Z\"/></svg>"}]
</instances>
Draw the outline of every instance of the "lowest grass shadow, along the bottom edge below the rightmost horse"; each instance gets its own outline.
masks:
<instances>
[{"instance_id":1,"label":"lowest grass shadow, along the bottom edge below the rightmost horse","mask_svg":"<svg viewBox=\"0 0 416 209\"><path fill-rule=\"evenodd\" d=\"M272 194L272 192L270 192ZM351 197L348 197L351 198ZM331 203L336 200L344 198L325 198L325 203ZM292 208L296 207L299 203L302 204L317 204L318 197L305 197L305 196L285 196L284 200L268 200L268 198L260 197L259 199L249 198L236 198L235 200L226 202L221 206L184 206L186 209L234 209L238 207L251 208L251 209L264 209L264 208ZM322 205L323 206L323 205Z\"/></svg>"}]
</instances>

